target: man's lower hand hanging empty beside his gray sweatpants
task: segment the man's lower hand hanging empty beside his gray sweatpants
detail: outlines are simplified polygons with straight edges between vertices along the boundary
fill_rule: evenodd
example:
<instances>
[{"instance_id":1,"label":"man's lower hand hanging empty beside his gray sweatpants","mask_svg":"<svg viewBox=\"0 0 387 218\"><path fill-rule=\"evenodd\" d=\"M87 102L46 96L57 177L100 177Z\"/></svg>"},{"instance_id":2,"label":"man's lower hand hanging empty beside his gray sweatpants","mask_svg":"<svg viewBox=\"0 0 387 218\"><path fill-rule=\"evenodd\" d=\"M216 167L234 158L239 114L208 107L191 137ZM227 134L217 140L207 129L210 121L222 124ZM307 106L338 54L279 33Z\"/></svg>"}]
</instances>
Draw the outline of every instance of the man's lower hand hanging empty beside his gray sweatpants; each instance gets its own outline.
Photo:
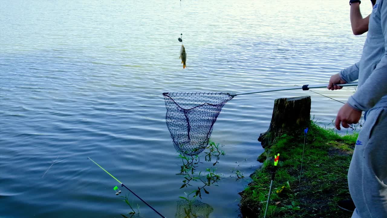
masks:
<instances>
[{"instance_id":1,"label":"man's lower hand hanging empty beside his gray sweatpants","mask_svg":"<svg viewBox=\"0 0 387 218\"><path fill-rule=\"evenodd\" d=\"M348 103L344 104L337 113L335 126L340 130L340 123L342 127L348 128L351 124L356 124L361 118L361 111L351 107Z\"/></svg>"}]
</instances>

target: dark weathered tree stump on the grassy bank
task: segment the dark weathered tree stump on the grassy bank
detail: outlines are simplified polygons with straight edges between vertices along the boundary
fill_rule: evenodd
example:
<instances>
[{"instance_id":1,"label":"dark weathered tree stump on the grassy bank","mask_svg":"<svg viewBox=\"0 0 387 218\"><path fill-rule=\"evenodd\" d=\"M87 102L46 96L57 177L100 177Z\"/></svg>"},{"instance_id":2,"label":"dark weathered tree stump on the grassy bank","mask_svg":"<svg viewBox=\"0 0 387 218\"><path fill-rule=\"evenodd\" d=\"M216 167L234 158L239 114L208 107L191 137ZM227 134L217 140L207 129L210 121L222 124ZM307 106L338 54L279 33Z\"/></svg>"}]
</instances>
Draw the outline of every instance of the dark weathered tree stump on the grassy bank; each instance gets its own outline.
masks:
<instances>
[{"instance_id":1,"label":"dark weathered tree stump on the grassy bank","mask_svg":"<svg viewBox=\"0 0 387 218\"><path fill-rule=\"evenodd\" d=\"M262 147L265 150L269 149L276 137L308 127L310 124L310 104L310 96L276 99L269 129L261 133L258 138ZM265 160L264 154L258 157L258 161L261 163Z\"/></svg>"}]
</instances>

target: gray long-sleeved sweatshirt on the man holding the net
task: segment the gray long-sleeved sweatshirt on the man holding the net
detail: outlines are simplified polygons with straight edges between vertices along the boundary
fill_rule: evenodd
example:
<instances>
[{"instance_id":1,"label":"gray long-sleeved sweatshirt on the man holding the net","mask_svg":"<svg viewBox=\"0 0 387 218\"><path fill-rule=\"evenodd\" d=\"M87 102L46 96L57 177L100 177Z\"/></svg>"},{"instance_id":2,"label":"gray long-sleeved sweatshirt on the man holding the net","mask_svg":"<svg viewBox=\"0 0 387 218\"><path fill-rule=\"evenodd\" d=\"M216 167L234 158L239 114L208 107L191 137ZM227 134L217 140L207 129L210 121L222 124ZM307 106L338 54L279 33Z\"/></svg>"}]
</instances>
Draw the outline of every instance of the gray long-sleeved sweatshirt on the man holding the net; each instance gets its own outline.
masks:
<instances>
[{"instance_id":1,"label":"gray long-sleeved sweatshirt on the man holding the net","mask_svg":"<svg viewBox=\"0 0 387 218\"><path fill-rule=\"evenodd\" d=\"M387 107L387 0L377 0L372 9L360 61L342 70L340 77L358 80L358 90L348 99L354 109Z\"/></svg>"}]
</instances>

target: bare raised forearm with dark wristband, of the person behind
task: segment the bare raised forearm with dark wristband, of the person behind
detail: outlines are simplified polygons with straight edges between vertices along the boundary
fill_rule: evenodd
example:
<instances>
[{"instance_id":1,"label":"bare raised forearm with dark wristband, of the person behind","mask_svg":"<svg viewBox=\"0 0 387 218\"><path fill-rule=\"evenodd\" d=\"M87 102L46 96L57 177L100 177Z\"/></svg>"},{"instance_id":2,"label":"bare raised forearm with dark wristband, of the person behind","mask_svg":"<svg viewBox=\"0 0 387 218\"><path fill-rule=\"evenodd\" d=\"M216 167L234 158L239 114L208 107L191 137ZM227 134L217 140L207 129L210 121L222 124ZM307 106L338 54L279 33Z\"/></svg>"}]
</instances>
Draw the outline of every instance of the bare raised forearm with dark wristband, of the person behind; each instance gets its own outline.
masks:
<instances>
[{"instance_id":1,"label":"bare raised forearm with dark wristband, of the person behind","mask_svg":"<svg viewBox=\"0 0 387 218\"><path fill-rule=\"evenodd\" d=\"M368 22L370 21L370 15L363 19L360 13L360 3L351 3L351 27L354 35L361 35L368 31Z\"/></svg>"}]
</instances>

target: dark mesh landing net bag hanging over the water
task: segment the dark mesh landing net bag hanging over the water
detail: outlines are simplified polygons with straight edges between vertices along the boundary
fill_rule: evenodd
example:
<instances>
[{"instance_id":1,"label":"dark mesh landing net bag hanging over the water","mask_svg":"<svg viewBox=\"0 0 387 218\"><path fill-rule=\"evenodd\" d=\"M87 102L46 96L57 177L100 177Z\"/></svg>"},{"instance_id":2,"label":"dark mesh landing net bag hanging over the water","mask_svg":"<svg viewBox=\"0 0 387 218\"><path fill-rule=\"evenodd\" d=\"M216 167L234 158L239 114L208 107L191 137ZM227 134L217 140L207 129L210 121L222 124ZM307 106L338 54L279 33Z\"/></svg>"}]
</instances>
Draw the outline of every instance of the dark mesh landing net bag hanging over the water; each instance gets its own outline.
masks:
<instances>
[{"instance_id":1,"label":"dark mesh landing net bag hanging over the water","mask_svg":"<svg viewBox=\"0 0 387 218\"><path fill-rule=\"evenodd\" d=\"M200 154L208 145L212 127L230 93L163 93L166 124L176 151L185 155Z\"/></svg>"}]
</instances>

